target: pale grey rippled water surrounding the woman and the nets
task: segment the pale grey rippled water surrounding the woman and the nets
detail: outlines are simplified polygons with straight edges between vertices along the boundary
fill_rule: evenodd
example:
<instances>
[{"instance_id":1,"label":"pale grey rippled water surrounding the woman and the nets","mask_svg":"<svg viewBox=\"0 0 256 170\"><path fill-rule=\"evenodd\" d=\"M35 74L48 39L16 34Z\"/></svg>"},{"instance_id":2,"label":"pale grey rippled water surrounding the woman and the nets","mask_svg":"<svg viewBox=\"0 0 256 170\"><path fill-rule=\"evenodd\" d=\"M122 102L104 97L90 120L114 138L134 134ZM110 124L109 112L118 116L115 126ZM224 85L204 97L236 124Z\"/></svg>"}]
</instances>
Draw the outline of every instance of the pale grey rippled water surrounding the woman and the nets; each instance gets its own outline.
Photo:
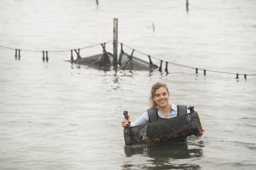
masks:
<instances>
[{"instance_id":1,"label":"pale grey rippled water surrounding the woman and the nets","mask_svg":"<svg viewBox=\"0 0 256 170\"><path fill-rule=\"evenodd\" d=\"M183 0L0 1L0 169L255 169L255 9L254 0L191 0L189 11ZM72 49L101 53L113 18L125 52L198 74L66 61ZM156 81L168 84L171 103L195 106L204 136L124 145L122 112L136 120L147 110Z\"/></svg>"}]
</instances>

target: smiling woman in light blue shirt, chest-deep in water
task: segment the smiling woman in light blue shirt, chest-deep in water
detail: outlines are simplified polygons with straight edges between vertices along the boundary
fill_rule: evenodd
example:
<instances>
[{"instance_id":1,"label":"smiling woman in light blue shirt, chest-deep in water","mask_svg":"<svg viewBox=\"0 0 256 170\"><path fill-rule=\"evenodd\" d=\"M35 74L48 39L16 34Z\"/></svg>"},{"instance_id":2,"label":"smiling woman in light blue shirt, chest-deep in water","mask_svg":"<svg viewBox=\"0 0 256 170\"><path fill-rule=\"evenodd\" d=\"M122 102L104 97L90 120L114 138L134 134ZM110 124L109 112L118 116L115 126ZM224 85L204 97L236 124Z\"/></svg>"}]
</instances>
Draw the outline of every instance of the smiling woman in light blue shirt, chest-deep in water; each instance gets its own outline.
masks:
<instances>
[{"instance_id":1,"label":"smiling woman in light blue shirt, chest-deep in water","mask_svg":"<svg viewBox=\"0 0 256 170\"><path fill-rule=\"evenodd\" d=\"M151 95L150 95L150 104L151 107L149 110L156 110L157 119L163 118L173 118L178 115L178 108L176 104L169 103L169 90L165 83L157 82L152 86ZM148 111L149 111L148 110ZM145 111L141 117L139 117L135 122L131 123L130 115L128 115L128 120L124 118L121 124L122 127L132 127L136 125L147 124L148 122L152 122L150 120L150 116L148 111ZM187 110L187 113L190 111ZM202 136L204 133L200 132L196 134L196 136Z\"/></svg>"}]
</instances>

